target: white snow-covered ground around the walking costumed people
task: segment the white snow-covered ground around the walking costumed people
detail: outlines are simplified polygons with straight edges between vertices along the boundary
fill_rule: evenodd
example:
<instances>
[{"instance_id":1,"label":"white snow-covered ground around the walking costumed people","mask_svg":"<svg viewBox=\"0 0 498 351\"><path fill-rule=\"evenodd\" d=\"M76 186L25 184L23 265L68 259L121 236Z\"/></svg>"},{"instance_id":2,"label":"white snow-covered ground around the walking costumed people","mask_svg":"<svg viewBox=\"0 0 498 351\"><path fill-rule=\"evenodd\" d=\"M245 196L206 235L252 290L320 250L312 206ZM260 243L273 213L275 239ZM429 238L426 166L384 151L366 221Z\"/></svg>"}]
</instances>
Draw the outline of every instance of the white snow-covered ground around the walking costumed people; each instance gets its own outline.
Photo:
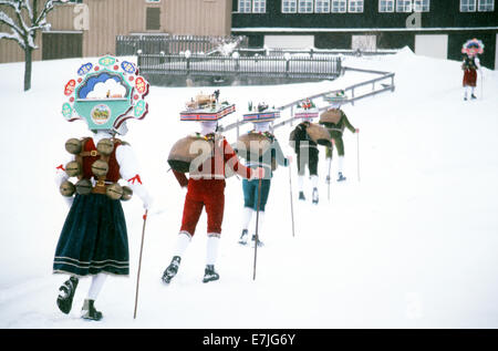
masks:
<instances>
[{"instance_id":1,"label":"white snow-covered ground around the walking costumed people","mask_svg":"<svg viewBox=\"0 0 498 351\"><path fill-rule=\"evenodd\" d=\"M242 186L232 177L217 262L220 280L201 282L203 214L177 277L162 283L185 196L166 158L178 138L197 131L196 123L179 122L184 103L214 87L153 86L149 114L129 121L124 137L139 158L155 207L164 209L146 225L138 316L133 319L144 210L137 197L123 204L131 275L107 279L95 303L104 319L80 318L90 279L80 281L71 313L61 313L55 299L66 276L52 273L52 259L69 208L54 171L66 154L65 141L89 134L84 122L68 123L61 114L63 86L82 63L35 62L28 93L23 65L0 64L0 328L498 328L498 72L485 69L479 99L464 102L459 62L406 49L344 62L395 72L396 90L344 107L360 140L345 132L347 182L332 184L330 202L323 148L318 206L298 202L291 165L294 237L289 172L276 172L256 280L253 249L237 244ZM371 78L347 72L333 82L221 87L220 97L238 109L221 122L241 117L248 100L281 105ZM290 126L276 132L286 154L291 154L290 132ZM235 131L227 137L235 142ZM309 179L305 186L310 199Z\"/></svg>"}]
</instances>

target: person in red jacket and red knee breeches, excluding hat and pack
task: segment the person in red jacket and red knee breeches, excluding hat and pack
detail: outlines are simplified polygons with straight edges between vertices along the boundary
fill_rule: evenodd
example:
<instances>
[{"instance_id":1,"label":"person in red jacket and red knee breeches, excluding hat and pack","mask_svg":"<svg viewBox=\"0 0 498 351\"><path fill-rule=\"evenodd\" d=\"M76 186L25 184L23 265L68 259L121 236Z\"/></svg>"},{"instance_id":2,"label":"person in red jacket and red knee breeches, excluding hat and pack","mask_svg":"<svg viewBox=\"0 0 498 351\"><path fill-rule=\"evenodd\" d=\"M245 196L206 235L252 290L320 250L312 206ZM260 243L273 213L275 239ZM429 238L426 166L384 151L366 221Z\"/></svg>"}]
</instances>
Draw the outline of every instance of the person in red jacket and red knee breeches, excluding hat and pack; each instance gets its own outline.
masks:
<instances>
[{"instance_id":1,"label":"person in red jacket and red knee breeches, excluding hat and pack","mask_svg":"<svg viewBox=\"0 0 498 351\"><path fill-rule=\"evenodd\" d=\"M187 187L185 196L181 227L178 234L173 259L163 273L163 281L169 283L178 272L181 256L194 237L203 208L207 214L207 252L203 282L218 280L215 270L218 256L221 224L225 211L225 178L227 172L235 172L243 178L263 178L264 169L243 166L228 144L227 140L216 133L217 121L203 121L200 135L212 143L211 155L197 168L190 166L189 178L184 173L173 171L181 187ZM195 168L195 169L194 169Z\"/></svg>"}]
</instances>

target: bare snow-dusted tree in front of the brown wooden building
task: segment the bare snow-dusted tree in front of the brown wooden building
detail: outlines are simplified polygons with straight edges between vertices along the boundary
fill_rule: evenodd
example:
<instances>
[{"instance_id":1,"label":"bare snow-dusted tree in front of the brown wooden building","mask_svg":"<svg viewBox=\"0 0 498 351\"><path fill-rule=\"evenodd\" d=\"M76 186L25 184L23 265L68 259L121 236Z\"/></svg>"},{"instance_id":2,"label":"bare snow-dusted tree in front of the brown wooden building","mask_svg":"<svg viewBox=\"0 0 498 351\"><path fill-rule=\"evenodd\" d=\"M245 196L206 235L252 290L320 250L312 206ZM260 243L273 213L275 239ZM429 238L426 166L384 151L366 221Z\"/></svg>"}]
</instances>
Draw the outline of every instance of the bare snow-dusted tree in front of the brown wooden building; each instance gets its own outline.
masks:
<instances>
[{"instance_id":1,"label":"bare snow-dusted tree in front of the brown wooden building","mask_svg":"<svg viewBox=\"0 0 498 351\"><path fill-rule=\"evenodd\" d=\"M0 0L0 24L10 32L1 32L0 39L12 40L24 51L24 91L31 89L31 66L37 33L50 29L46 16L55 3L68 0Z\"/></svg>"}]
</instances>

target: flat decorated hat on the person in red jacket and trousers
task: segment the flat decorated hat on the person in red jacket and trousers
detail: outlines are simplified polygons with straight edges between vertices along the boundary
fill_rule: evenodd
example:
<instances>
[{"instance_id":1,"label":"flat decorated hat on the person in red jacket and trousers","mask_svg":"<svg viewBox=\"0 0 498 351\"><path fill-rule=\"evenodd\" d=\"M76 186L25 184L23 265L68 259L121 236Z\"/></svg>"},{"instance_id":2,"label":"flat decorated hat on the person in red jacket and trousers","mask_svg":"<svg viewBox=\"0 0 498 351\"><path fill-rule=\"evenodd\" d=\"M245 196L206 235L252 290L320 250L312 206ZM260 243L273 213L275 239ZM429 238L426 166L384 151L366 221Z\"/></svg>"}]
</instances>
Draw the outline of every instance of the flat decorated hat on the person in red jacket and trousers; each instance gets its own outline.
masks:
<instances>
[{"instance_id":1,"label":"flat decorated hat on the person in red jacket and trousers","mask_svg":"<svg viewBox=\"0 0 498 351\"><path fill-rule=\"evenodd\" d=\"M236 111L235 104L218 102L219 90L210 95L197 94L180 112L180 121L218 121Z\"/></svg>"}]
</instances>

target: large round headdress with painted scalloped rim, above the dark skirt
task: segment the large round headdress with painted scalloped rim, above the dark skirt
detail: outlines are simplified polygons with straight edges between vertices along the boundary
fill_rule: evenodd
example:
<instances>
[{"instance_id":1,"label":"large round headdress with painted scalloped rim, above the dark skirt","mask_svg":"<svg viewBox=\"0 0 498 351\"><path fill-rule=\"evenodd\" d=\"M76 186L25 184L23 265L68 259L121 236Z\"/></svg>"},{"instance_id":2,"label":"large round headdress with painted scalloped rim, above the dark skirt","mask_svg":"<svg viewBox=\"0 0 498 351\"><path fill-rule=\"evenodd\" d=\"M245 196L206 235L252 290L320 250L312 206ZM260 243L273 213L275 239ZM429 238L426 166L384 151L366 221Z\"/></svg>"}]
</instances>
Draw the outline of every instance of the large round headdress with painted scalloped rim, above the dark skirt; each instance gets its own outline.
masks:
<instances>
[{"instance_id":1,"label":"large round headdress with painted scalloped rim, above the dark skirt","mask_svg":"<svg viewBox=\"0 0 498 351\"><path fill-rule=\"evenodd\" d=\"M76 76L65 84L68 101L62 114L69 122L86 121L92 131L117 131L128 118L145 117L148 89L135 63L106 55L81 65Z\"/></svg>"}]
</instances>

